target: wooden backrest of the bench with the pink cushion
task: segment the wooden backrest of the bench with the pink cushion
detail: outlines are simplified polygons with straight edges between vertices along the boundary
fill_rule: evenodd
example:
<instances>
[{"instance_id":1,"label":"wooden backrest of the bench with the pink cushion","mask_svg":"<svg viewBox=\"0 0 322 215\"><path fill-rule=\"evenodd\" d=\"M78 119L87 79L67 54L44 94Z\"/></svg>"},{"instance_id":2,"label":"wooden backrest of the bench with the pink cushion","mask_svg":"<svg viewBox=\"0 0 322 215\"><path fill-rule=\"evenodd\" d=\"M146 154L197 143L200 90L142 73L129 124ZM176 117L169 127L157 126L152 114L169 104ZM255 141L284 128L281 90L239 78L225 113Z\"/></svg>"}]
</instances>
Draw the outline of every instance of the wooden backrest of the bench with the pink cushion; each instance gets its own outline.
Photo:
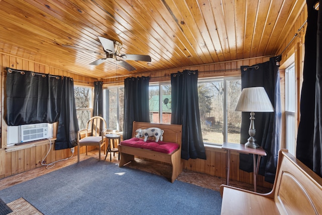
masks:
<instances>
[{"instance_id":1,"label":"wooden backrest of the bench with the pink cushion","mask_svg":"<svg viewBox=\"0 0 322 215\"><path fill-rule=\"evenodd\" d=\"M135 137L135 134L136 134L135 131L137 129L145 129L145 128L151 128L151 127L157 127L157 128L163 129L165 131L163 134L163 141L176 142L181 147L182 125L133 121L132 137Z\"/></svg>"}]
</instances>

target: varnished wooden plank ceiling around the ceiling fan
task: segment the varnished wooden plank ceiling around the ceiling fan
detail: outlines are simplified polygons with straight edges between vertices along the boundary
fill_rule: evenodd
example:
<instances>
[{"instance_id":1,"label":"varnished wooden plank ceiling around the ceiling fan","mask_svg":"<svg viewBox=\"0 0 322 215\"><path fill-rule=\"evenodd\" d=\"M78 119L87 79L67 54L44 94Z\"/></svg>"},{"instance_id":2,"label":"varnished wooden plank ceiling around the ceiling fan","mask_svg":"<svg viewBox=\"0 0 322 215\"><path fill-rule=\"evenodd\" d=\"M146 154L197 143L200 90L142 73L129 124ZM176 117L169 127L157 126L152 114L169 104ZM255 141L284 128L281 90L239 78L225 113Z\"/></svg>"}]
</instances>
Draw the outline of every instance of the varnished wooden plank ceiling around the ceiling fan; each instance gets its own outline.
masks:
<instances>
[{"instance_id":1,"label":"varnished wooden plank ceiling around the ceiling fan","mask_svg":"<svg viewBox=\"0 0 322 215\"><path fill-rule=\"evenodd\" d=\"M0 0L0 52L96 79L274 55L304 0ZM128 71L98 36L122 43ZM89 53L62 45L92 50Z\"/></svg>"}]
</instances>

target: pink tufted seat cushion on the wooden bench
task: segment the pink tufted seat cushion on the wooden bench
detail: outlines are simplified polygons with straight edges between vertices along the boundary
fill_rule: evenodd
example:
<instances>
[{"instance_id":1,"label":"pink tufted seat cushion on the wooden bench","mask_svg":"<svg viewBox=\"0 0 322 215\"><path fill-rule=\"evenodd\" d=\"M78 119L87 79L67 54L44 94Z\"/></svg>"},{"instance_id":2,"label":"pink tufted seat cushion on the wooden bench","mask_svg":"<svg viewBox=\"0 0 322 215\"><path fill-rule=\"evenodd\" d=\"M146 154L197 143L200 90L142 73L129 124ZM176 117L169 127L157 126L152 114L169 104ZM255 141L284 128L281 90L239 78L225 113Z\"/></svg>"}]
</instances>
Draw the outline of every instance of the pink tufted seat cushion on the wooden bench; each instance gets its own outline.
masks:
<instances>
[{"instance_id":1,"label":"pink tufted seat cushion on the wooden bench","mask_svg":"<svg viewBox=\"0 0 322 215\"><path fill-rule=\"evenodd\" d=\"M175 142L164 142L160 140L155 142L149 139L145 142L142 138L137 137L123 140L120 142L120 145L134 148L142 148L165 154L171 154L173 151L179 148L179 145Z\"/></svg>"}]
</instances>

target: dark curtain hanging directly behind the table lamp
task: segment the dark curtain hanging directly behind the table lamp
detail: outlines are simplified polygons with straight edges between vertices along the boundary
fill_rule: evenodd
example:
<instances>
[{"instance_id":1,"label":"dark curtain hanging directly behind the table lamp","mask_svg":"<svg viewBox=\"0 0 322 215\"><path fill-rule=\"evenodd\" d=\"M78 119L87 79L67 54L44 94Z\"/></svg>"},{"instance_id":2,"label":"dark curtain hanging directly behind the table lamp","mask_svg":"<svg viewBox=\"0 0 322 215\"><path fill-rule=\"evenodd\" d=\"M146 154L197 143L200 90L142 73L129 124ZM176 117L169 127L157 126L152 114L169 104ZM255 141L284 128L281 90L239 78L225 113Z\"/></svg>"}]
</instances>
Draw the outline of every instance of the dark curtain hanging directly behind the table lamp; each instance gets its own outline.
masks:
<instances>
[{"instance_id":1,"label":"dark curtain hanging directly behind the table lamp","mask_svg":"<svg viewBox=\"0 0 322 215\"><path fill-rule=\"evenodd\" d=\"M271 57L270 61L264 63L240 67L241 88L264 87L275 109L274 112L256 112L254 121L257 144L267 153L267 156L261 159L259 173L270 183L274 183L281 141L282 114L278 60L280 57ZM250 113L241 113L240 144L245 144L250 137L249 126ZM253 155L240 154L239 160L239 169L253 171Z\"/></svg>"}]
</instances>

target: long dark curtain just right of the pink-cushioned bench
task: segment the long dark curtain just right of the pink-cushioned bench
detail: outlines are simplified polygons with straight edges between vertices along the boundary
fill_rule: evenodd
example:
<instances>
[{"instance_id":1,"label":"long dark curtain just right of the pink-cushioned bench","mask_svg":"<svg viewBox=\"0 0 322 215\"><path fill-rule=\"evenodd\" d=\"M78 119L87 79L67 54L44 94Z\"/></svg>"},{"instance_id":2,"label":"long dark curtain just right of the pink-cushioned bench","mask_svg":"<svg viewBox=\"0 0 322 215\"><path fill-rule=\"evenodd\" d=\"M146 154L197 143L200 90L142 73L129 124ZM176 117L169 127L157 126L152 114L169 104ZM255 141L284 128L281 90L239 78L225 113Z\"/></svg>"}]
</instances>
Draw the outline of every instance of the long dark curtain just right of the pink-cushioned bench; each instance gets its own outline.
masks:
<instances>
[{"instance_id":1,"label":"long dark curtain just right of the pink-cushioned bench","mask_svg":"<svg viewBox=\"0 0 322 215\"><path fill-rule=\"evenodd\" d=\"M171 124L182 125L181 158L206 159L199 113L198 70L171 74L171 100Z\"/></svg>"}]
</instances>

